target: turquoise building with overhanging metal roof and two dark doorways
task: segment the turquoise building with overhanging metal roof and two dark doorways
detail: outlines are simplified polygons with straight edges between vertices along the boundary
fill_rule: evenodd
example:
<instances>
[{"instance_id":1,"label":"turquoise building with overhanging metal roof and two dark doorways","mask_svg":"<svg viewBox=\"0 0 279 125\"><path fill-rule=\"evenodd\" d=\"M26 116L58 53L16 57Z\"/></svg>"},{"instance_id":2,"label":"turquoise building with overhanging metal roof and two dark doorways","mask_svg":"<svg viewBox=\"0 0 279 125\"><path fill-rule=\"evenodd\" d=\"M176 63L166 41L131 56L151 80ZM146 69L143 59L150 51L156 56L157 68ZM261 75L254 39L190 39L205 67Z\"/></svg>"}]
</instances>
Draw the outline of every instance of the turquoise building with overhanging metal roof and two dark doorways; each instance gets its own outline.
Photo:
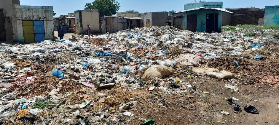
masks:
<instances>
[{"instance_id":1,"label":"turquoise building with overhanging metal roof and two dark doorways","mask_svg":"<svg viewBox=\"0 0 279 125\"><path fill-rule=\"evenodd\" d=\"M172 14L172 25L193 32L221 32L223 12L233 14L222 7L223 2L184 4L184 11Z\"/></svg>"}]
</instances>

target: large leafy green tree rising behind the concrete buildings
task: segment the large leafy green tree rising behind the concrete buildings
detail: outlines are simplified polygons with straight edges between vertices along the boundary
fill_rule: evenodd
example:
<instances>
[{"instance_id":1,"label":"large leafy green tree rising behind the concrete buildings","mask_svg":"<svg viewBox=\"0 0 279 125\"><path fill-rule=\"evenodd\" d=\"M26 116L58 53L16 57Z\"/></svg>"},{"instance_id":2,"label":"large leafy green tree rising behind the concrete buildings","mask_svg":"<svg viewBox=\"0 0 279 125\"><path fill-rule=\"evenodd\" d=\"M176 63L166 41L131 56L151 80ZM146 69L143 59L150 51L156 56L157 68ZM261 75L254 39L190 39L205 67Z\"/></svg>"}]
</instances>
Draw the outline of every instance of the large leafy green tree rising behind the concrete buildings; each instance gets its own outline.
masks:
<instances>
[{"instance_id":1,"label":"large leafy green tree rising behind the concrete buildings","mask_svg":"<svg viewBox=\"0 0 279 125\"><path fill-rule=\"evenodd\" d=\"M114 15L119 8L120 4L115 0L95 0L84 6L84 9L98 9L101 17Z\"/></svg>"}]
</instances>

